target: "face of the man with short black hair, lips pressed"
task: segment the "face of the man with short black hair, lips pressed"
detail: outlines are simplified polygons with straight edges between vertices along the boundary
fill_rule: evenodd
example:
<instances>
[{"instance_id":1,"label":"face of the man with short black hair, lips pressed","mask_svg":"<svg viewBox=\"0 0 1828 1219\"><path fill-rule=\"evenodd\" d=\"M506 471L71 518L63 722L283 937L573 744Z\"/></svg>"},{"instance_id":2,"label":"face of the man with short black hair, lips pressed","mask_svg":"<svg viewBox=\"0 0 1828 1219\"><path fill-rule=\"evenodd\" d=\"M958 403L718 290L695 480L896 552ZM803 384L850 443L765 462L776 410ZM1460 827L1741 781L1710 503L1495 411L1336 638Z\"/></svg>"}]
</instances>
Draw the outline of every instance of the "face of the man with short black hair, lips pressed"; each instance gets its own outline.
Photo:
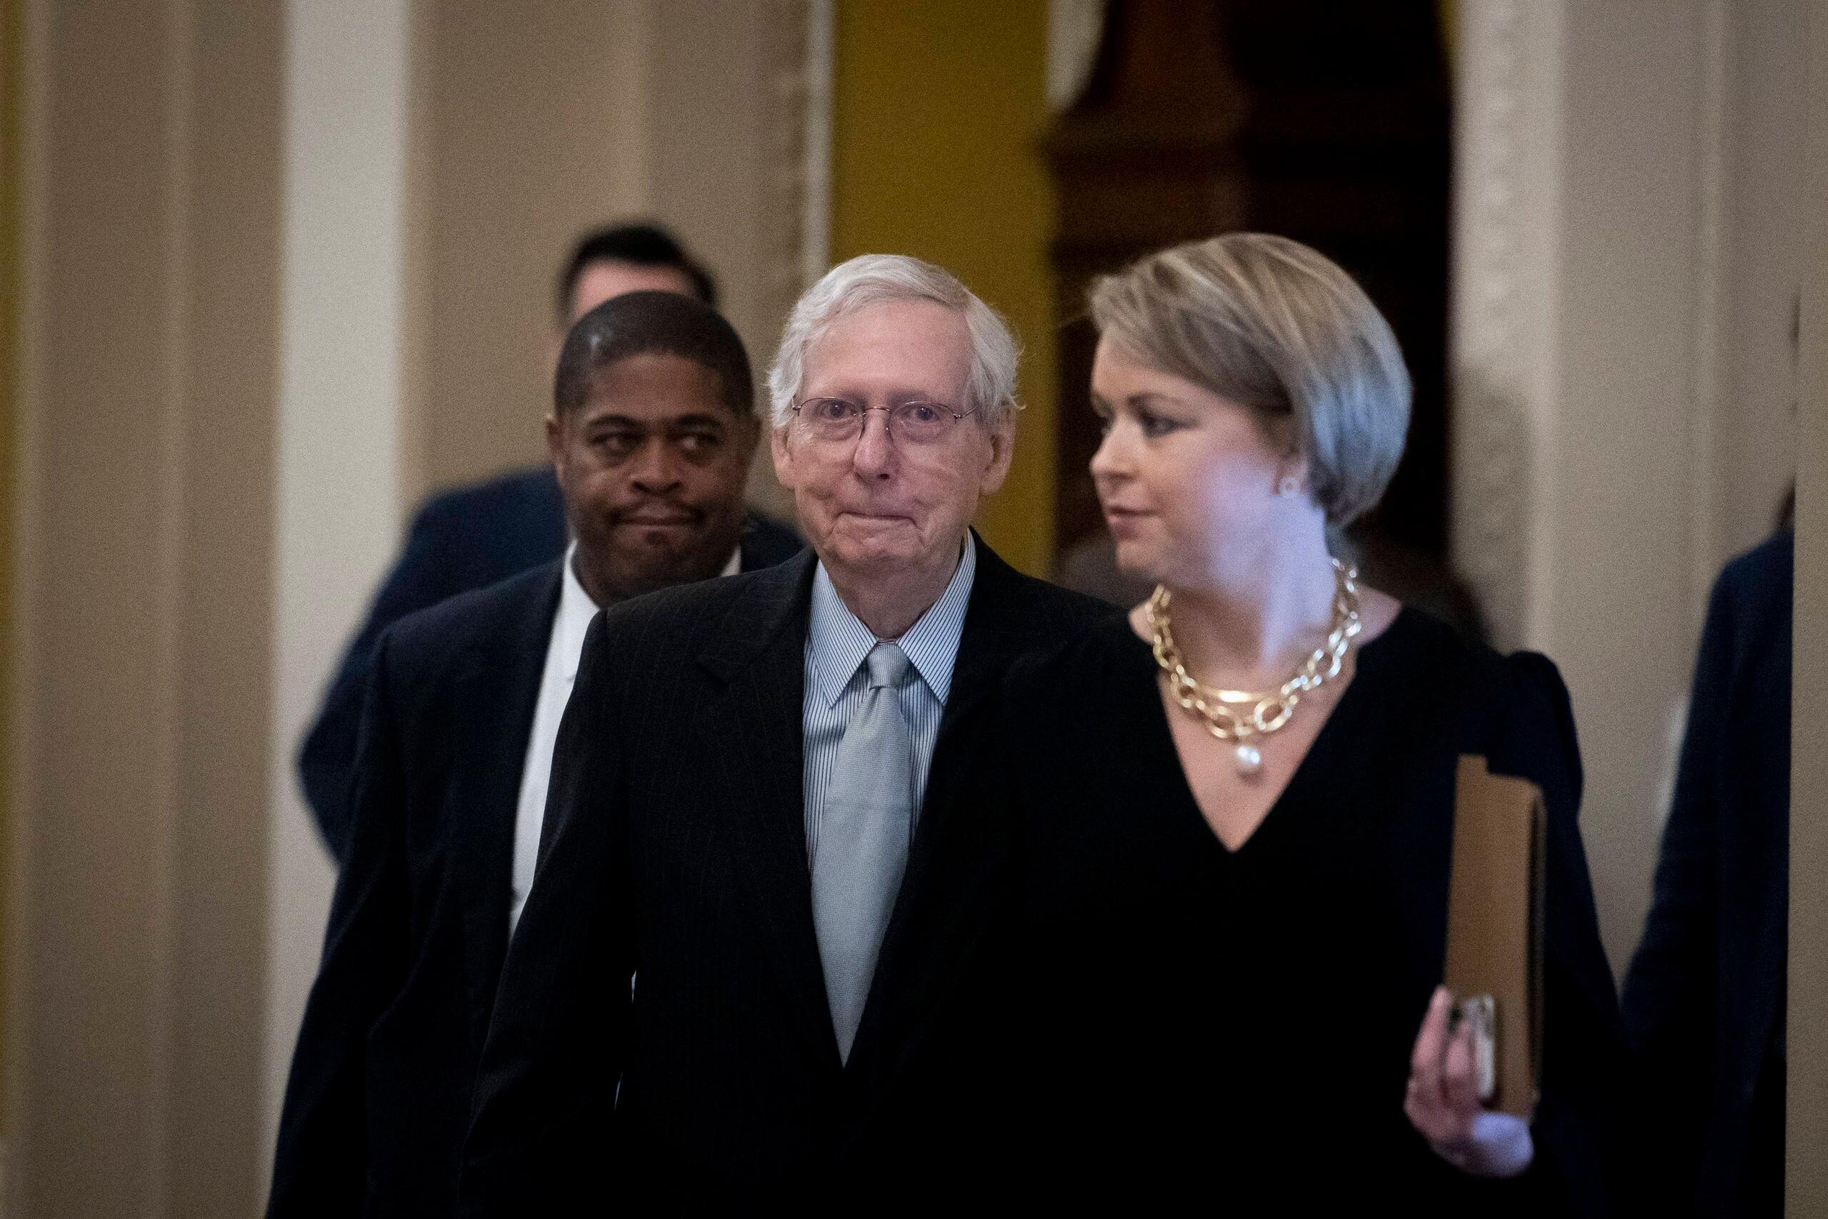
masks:
<instances>
[{"instance_id":1,"label":"face of the man with short black hair, lips pressed","mask_svg":"<svg viewBox=\"0 0 1828 1219\"><path fill-rule=\"evenodd\" d=\"M578 409L547 419L585 590L607 603L722 570L759 431L724 402L717 373L684 356L598 369Z\"/></svg>"}]
</instances>

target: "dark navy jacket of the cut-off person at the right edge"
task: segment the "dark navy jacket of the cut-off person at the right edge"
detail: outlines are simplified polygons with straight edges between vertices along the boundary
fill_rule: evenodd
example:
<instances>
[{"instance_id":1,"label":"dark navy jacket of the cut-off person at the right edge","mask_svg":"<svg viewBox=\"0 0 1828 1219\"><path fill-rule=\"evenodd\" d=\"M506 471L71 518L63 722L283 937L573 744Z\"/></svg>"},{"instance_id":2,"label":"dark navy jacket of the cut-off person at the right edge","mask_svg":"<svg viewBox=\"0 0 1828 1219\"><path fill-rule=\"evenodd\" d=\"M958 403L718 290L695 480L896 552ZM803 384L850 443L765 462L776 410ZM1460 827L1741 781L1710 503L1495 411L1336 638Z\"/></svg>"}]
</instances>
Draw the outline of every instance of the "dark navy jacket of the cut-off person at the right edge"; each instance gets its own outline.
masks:
<instances>
[{"instance_id":1,"label":"dark navy jacket of the cut-off person at the right edge","mask_svg":"<svg viewBox=\"0 0 1828 1219\"><path fill-rule=\"evenodd\" d=\"M1680 1193L1674 1214L1782 1206L1793 541L1771 537L1715 583L1656 896L1625 974L1654 1179Z\"/></svg>"}]
</instances>

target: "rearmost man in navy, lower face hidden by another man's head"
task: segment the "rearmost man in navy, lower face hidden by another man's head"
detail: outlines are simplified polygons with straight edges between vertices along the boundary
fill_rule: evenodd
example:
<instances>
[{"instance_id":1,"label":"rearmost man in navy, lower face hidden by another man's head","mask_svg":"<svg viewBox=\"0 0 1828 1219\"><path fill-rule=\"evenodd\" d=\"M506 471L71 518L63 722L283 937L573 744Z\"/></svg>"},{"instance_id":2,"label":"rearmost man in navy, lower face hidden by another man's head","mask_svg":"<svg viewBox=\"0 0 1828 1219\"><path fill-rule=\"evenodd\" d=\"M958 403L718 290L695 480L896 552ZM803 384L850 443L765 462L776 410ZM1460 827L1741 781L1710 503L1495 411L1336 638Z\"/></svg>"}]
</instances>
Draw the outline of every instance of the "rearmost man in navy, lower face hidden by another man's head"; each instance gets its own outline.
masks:
<instances>
[{"instance_id":1,"label":"rearmost man in navy, lower face hidden by another man's head","mask_svg":"<svg viewBox=\"0 0 1828 1219\"><path fill-rule=\"evenodd\" d=\"M711 274L664 228L598 228L578 239L556 285L558 342L578 318L622 292L684 292L717 307ZM375 640L389 623L444 598L483 588L565 550L565 504L548 464L439 492L413 515L393 570L344 652L298 751L298 780L331 855L349 853L349 779L362 687Z\"/></svg>"}]
</instances>

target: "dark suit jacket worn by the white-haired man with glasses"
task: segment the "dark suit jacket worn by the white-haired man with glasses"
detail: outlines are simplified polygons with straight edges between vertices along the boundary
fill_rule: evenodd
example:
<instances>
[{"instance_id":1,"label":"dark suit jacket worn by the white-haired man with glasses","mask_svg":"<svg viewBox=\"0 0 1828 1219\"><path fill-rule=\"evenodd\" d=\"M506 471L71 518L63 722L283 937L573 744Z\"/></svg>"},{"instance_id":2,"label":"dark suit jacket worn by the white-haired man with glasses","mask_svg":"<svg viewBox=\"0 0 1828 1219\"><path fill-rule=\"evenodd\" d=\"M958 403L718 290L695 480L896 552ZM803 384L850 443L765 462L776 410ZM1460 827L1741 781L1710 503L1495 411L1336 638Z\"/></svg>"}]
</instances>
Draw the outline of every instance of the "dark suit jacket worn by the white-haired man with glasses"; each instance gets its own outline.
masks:
<instances>
[{"instance_id":1,"label":"dark suit jacket worn by the white-haired man with glasses","mask_svg":"<svg viewBox=\"0 0 1828 1219\"><path fill-rule=\"evenodd\" d=\"M806 866L812 574L802 554L590 627L477 1076L461 1214L806 1204L857 1133L861 1082L894 1051L874 996L899 970L927 815L845 1065ZM1002 669L1102 612L980 543L929 791L958 753L951 727Z\"/></svg>"}]
</instances>

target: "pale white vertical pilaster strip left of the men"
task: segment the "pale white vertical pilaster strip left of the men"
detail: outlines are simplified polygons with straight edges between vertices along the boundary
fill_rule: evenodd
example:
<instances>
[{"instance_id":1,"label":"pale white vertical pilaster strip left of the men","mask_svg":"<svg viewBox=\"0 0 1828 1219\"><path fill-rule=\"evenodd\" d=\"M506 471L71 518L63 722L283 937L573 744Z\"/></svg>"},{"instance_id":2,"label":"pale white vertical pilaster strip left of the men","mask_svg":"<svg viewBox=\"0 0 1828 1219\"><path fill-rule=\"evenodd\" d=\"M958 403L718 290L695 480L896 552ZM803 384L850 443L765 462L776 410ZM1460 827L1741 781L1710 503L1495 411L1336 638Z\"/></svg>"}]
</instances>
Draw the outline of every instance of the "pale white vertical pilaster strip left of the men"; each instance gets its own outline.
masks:
<instances>
[{"instance_id":1,"label":"pale white vertical pilaster strip left of the men","mask_svg":"<svg viewBox=\"0 0 1828 1219\"><path fill-rule=\"evenodd\" d=\"M298 742L399 550L409 325L411 5L285 0L261 1184L336 872Z\"/></svg>"}]
</instances>

